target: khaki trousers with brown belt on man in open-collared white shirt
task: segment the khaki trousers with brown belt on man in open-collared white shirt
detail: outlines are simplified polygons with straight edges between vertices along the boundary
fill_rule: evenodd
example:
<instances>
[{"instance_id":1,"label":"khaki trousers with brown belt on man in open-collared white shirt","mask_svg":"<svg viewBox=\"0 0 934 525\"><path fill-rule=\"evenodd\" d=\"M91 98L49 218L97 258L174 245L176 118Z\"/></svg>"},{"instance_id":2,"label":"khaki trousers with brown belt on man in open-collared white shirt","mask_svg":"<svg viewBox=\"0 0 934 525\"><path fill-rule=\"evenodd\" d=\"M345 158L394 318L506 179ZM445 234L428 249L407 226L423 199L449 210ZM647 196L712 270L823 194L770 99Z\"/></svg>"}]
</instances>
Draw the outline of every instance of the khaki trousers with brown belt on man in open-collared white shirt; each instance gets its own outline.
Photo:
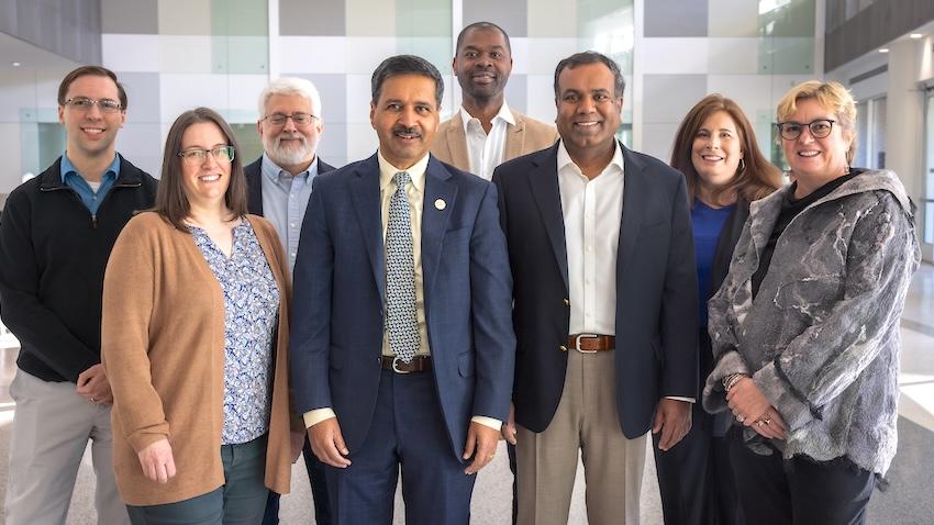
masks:
<instances>
[{"instance_id":1,"label":"khaki trousers with brown belt on man in open-collared white shirt","mask_svg":"<svg viewBox=\"0 0 934 525\"><path fill-rule=\"evenodd\" d=\"M646 437L620 428L614 351L569 350L552 423L537 434L516 427L520 525L568 523L578 451L590 525L638 524Z\"/></svg>"}]
</instances>

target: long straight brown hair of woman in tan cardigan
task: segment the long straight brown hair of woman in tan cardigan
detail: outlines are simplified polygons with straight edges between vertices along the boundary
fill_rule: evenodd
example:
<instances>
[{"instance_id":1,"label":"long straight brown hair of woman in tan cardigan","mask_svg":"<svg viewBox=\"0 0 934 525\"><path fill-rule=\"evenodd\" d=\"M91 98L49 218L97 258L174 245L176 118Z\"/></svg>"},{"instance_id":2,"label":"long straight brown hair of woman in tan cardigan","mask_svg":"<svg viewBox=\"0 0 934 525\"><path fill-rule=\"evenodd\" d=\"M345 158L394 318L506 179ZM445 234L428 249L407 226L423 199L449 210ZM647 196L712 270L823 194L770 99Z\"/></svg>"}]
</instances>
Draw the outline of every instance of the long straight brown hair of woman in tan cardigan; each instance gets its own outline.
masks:
<instances>
[{"instance_id":1,"label":"long straight brown hair of woman in tan cardigan","mask_svg":"<svg viewBox=\"0 0 934 525\"><path fill-rule=\"evenodd\" d=\"M241 150L233 130L216 111L209 108L197 108L178 115L166 137L163 154L163 172L159 177L159 188L156 191L156 205L153 211L163 216L173 226L189 232L185 220L191 213L191 203L185 194L181 180L181 136L192 124L210 122L220 127L229 146L234 147L234 158L231 163L231 182L224 193L224 202L235 216L246 215L246 177L243 175Z\"/></svg>"}]
</instances>

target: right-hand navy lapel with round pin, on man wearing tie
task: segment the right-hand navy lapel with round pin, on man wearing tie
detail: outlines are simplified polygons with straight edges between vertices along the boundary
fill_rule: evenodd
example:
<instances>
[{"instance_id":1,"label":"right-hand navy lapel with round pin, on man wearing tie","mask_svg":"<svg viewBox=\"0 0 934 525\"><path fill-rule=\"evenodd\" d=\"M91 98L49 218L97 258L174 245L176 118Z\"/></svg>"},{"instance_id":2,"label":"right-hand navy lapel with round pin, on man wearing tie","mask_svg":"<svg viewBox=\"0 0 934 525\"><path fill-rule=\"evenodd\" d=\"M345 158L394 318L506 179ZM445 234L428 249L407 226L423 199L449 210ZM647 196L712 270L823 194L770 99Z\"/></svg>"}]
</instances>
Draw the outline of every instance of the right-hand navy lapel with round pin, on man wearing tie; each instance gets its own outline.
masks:
<instances>
[{"instance_id":1,"label":"right-hand navy lapel with round pin, on man wearing tie","mask_svg":"<svg viewBox=\"0 0 934 525\"><path fill-rule=\"evenodd\" d=\"M457 185L449 180L451 178L447 169L431 156L425 171L425 194L422 203L422 276L425 308L437 276L448 217L456 205ZM441 201L444 202L443 205L440 204Z\"/></svg>"}]
</instances>

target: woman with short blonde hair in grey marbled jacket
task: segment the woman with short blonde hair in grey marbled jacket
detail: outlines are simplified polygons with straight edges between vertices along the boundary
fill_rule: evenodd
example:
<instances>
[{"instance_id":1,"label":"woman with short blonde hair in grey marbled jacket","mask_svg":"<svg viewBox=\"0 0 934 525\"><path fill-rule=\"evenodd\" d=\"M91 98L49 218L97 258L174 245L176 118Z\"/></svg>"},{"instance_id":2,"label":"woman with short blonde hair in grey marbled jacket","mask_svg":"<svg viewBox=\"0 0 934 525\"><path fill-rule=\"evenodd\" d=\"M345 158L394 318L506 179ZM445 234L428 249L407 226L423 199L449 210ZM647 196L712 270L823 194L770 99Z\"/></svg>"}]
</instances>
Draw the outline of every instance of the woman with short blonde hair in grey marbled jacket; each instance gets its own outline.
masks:
<instances>
[{"instance_id":1,"label":"woman with short blonde hair in grey marbled jacket","mask_svg":"<svg viewBox=\"0 0 934 525\"><path fill-rule=\"evenodd\" d=\"M755 524L864 523L896 453L899 319L921 250L889 170L850 167L856 104L808 81L778 103L793 182L754 203L711 299L704 406Z\"/></svg>"}]
</instances>

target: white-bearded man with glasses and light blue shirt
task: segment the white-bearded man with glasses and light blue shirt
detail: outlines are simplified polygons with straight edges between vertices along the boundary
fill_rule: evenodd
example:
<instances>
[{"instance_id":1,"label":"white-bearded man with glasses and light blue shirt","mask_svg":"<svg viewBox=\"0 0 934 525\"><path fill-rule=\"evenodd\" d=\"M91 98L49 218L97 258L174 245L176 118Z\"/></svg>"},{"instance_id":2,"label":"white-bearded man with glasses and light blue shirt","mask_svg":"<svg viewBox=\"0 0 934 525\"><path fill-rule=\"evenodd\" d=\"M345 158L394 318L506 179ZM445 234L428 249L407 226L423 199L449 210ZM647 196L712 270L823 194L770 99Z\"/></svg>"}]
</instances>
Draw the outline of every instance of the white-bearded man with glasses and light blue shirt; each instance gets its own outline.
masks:
<instances>
[{"instance_id":1,"label":"white-bearded man with glasses and light blue shirt","mask_svg":"<svg viewBox=\"0 0 934 525\"><path fill-rule=\"evenodd\" d=\"M263 156L243 168L246 175L247 209L264 215L276 227L282 247L294 268L311 185L318 175L334 168L318 157L318 141L323 131L321 96L311 81L279 78L259 93L259 120ZM304 465L314 500L314 521L330 525L327 481L324 465L314 457L305 439ZM279 494L269 492L263 525L279 523Z\"/></svg>"}]
</instances>

